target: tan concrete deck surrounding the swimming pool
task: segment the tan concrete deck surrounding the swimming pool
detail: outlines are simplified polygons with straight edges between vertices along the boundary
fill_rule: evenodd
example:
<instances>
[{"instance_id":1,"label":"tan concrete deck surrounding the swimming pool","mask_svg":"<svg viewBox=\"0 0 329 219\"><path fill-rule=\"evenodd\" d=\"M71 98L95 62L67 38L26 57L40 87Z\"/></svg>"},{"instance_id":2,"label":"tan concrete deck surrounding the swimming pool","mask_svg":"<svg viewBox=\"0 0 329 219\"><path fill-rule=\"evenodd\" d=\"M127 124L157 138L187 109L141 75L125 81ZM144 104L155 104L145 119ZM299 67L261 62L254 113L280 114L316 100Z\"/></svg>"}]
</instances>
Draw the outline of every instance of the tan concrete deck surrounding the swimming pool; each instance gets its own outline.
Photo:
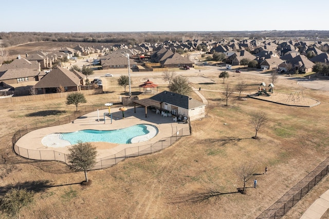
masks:
<instances>
[{"instance_id":1,"label":"tan concrete deck surrounding the swimming pool","mask_svg":"<svg viewBox=\"0 0 329 219\"><path fill-rule=\"evenodd\" d=\"M46 127L43 129L39 129L27 133L16 142L15 146L19 147L20 149L26 149L29 152L33 152L33 153L36 153L38 151L40 151L40 153L42 151L55 151L55 152L67 154L69 147L58 147L61 144L60 140L57 142L53 142L54 147L49 147L49 146L47 147L41 142L43 137L46 135L50 135L52 133L68 133L68 132L76 132L80 130L117 130L136 124L151 124L157 127L158 134L155 137L149 140L145 139L145 141L138 143L116 144L116 143L107 143L107 142L92 142L92 144L97 147L98 150L97 158L99 159L108 156L113 156L114 154L126 148L133 148L143 145L145 145L145 147L149 147L150 144L153 144L161 140L162 138L170 137L181 129L188 130L189 128L188 123L174 122L172 117L162 117L161 114L156 114L155 112L150 111L149 109L148 109L148 117L145 118L144 107L136 107L136 113L134 113L134 107L127 107L127 108L128 108L127 111L124 112L125 118L123 119L122 112L119 111L119 108L111 107L112 124L111 124L111 118L107 115L105 116L105 123L104 123L104 113L108 113L108 109L103 109L100 110L99 112L95 111L83 115L78 119L74 120L73 123ZM47 144L47 145L51 145L51 144ZM47 160L45 156L43 156L42 159ZM51 159L49 158L49 160Z\"/></svg>"}]
</instances>

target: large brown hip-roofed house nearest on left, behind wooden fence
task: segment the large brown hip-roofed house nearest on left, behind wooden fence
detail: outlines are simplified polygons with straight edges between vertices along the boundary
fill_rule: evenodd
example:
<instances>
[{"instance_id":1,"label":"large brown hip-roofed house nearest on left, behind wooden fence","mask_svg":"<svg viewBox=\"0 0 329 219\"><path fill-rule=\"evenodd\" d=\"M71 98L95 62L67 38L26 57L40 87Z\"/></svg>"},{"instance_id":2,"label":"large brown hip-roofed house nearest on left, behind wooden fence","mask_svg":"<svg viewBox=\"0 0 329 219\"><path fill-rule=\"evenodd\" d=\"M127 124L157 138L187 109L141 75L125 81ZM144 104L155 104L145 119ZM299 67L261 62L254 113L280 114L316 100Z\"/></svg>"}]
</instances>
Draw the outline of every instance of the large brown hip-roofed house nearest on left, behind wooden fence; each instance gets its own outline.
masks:
<instances>
[{"instance_id":1,"label":"large brown hip-roofed house nearest on left, behind wooden fence","mask_svg":"<svg viewBox=\"0 0 329 219\"><path fill-rule=\"evenodd\" d=\"M64 87L65 91L72 92L81 90L81 78L74 72L57 66L45 75L34 88L39 94L56 93L58 87Z\"/></svg>"}]
</instances>

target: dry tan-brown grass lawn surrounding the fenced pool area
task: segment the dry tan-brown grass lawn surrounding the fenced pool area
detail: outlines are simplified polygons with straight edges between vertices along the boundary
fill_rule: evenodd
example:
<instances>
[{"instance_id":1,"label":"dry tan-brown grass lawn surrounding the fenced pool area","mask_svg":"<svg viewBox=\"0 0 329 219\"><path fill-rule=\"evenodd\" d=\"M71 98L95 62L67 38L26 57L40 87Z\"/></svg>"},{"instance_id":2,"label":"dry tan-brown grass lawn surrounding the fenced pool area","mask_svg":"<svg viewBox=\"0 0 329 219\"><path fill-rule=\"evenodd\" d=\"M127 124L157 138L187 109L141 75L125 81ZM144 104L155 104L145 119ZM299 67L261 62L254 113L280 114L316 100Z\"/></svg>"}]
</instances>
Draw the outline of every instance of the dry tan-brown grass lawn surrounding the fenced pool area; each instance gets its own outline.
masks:
<instances>
[{"instance_id":1,"label":"dry tan-brown grass lawn surrounding the fenced pool area","mask_svg":"<svg viewBox=\"0 0 329 219\"><path fill-rule=\"evenodd\" d=\"M305 97L321 102L315 107L285 106L236 94L224 106L224 90L245 80L246 93L257 90L261 77L239 74L223 84L218 72L206 77L213 84L192 84L209 101L207 117L192 122L192 135L180 139L161 152L126 159L104 170L90 171L91 186L82 187L83 172L70 172L63 163L33 161L15 155L11 149L12 133L28 123L56 120L75 110L65 99L5 104L2 115L0 191L13 186L36 189L35 203L21 211L22 218L255 218L276 202L319 163L328 157L327 93L303 89ZM118 100L122 88L115 78L106 78L108 91L87 96L88 103L104 104ZM133 79L133 91L140 79ZM136 83L135 83L136 82ZM302 89L291 81L277 82L277 92L290 94ZM166 89L163 85L159 90ZM204 90L205 89L205 90ZM145 98L147 95L140 95ZM199 99L196 94L193 98ZM200 99L199 99L200 100ZM83 107L83 106L82 106ZM58 110L60 114L28 116L31 113ZM262 111L269 117L266 127L251 138L254 130L248 120L252 112ZM247 182L247 194L237 193L243 186L236 172L249 163L257 168L258 188ZM265 166L268 174L263 175ZM324 181L327 181L327 177ZM317 187L325 191L327 183ZM214 192L214 193L211 193ZM316 191L316 190L313 190ZM312 192L313 192L312 191ZM209 195L209 196L208 196ZM285 218L298 218L317 198L309 193Z\"/></svg>"}]
</instances>

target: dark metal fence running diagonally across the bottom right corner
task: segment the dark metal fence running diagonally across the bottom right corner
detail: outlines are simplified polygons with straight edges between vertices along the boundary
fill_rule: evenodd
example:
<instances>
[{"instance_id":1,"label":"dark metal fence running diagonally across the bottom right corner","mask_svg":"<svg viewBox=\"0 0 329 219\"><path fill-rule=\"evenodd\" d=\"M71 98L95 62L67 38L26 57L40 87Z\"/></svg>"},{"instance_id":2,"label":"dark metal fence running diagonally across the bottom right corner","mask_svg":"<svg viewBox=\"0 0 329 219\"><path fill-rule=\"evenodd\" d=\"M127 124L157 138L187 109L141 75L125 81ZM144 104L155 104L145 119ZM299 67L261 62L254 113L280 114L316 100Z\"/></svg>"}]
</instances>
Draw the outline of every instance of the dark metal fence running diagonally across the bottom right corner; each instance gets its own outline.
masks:
<instances>
[{"instance_id":1,"label":"dark metal fence running diagonally across the bottom right corner","mask_svg":"<svg viewBox=\"0 0 329 219\"><path fill-rule=\"evenodd\" d=\"M318 184L321 179L329 172L329 158L320 163L320 165L307 176L305 176L296 186L284 194L275 204L265 210L257 219L269 218L278 219L293 208L309 190Z\"/></svg>"}]
</instances>

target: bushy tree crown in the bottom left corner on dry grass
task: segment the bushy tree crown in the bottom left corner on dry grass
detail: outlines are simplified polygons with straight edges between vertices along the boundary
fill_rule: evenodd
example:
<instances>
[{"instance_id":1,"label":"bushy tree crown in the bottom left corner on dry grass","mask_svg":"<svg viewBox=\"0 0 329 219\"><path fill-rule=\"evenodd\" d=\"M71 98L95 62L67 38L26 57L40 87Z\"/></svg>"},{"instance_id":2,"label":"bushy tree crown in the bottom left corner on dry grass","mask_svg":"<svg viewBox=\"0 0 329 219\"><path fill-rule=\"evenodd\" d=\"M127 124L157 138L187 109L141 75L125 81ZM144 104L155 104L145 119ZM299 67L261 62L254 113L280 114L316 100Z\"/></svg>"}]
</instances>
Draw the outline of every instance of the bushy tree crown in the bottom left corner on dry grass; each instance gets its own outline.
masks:
<instances>
[{"instance_id":1,"label":"bushy tree crown in the bottom left corner on dry grass","mask_svg":"<svg viewBox=\"0 0 329 219\"><path fill-rule=\"evenodd\" d=\"M34 201L34 193L26 189L11 189L0 198L0 209L8 215L15 216L21 208Z\"/></svg>"}]
</instances>

